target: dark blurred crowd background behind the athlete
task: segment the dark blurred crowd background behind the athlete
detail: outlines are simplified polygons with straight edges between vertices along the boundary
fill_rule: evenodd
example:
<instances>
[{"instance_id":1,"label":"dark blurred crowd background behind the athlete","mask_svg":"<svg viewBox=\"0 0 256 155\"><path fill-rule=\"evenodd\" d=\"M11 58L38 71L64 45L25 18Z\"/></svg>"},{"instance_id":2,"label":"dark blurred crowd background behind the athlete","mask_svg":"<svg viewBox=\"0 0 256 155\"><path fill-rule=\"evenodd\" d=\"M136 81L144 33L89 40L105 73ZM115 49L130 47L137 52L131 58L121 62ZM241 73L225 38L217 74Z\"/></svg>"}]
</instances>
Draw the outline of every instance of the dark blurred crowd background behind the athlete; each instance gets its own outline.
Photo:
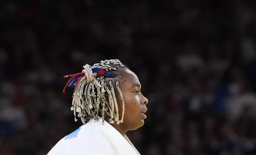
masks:
<instances>
[{"instance_id":1,"label":"dark blurred crowd background behind the athlete","mask_svg":"<svg viewBox=\"0 0 256 155\"><path fill-rule=\"evenodd\" d=\"M63 76L105 59L149 99L142 155L256 155L255 40L255 0L2 0L0 155L76 130Z\"/></svg>"}]
</instances>

